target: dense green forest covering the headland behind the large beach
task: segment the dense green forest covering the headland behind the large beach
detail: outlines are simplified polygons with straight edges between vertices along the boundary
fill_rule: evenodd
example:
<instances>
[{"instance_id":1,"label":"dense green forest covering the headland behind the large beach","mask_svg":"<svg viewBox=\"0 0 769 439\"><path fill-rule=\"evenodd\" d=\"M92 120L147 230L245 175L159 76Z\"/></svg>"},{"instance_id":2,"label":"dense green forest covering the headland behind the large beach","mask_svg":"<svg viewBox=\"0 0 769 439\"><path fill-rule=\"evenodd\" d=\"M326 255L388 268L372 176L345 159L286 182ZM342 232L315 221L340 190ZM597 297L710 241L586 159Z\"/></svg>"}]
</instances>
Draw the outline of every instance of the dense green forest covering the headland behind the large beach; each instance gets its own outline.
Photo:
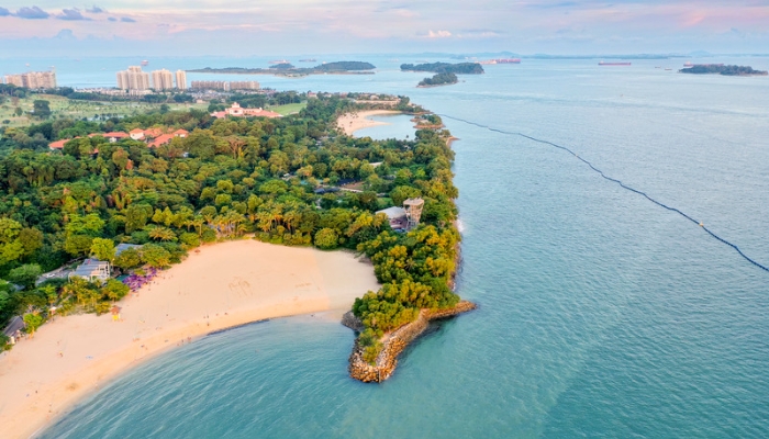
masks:
<instances>
[{"instance_id":1,"label":"dense green forest covering the headland behind the large beach","mask_svg":"<svg viewBox=\"0 0 769 439\"><path fill-rule=\"evenodd\" d=\"M57 314L109 309L127 293L119 281L40 282L41 273L85 257L144 275L180 262L202 244L253 236L370 258L383 285L358 299L354 312L366 325L361 341L371 360L384 331L420 308L458 301L448 288L459 239L453 225L457 190L446 131L384 142L342 135L336 117L365 109L355 97L323 94L301 113L272 120L215 120L191 110L5 130L0 325L23 315L34 331L52 306ZM398 108L421 112L408 98ZM136 127L190 134L157 148L86 136ZM48 150L47 142L59 138L71 139L62 151ZM361 182L363 192L319 190L345 181ZM425 201L422 224L409 233L390 229L387 216L376 214L416 196ZM141 247L115 256L121 243Z\"/></svg>"}]
</instances>

